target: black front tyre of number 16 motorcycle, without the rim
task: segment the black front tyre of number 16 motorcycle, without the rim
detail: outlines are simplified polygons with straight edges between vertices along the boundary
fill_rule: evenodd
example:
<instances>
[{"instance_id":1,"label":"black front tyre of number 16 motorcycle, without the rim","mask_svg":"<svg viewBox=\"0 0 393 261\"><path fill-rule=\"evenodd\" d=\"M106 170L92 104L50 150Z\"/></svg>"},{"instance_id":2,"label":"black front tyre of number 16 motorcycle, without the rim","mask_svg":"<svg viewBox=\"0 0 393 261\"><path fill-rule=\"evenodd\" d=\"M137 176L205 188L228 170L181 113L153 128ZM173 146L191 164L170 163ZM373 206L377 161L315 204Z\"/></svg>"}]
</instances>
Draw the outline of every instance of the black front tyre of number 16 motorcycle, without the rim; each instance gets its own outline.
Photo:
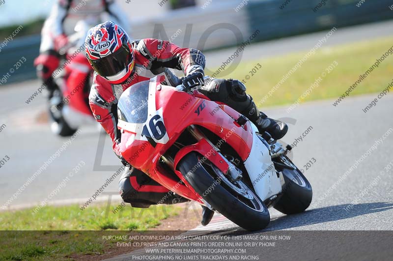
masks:
<instances>
[{"instance_id":1,"label":"black front tyre of number 16 motorcycle, without the rim","mask_svg":"<svg viewBox=\"0 0 393 261\"><path fill-rule=\"evenodd\" d=\"M253 209L232 195L222 183L217 180L204 167L200 166L198 155L191 152L184 156L178 164L179 171L194 188L194 190L215 210L223 214L236 225L249 230L256 231L264 229L270 222L268 208L263 201L253 193L253 200L260 204L260 211ZM206 161L205 161L206 163ZM195 170L192 172L191 170ZM216 183L215 183L216 182ZM214 187L213 184L216 184ZM211 190L213 187L213 190ZM211 192L206 193L208 190ZM251 194L250 194L251 195Z\"/></svg>"}]
</instances>

